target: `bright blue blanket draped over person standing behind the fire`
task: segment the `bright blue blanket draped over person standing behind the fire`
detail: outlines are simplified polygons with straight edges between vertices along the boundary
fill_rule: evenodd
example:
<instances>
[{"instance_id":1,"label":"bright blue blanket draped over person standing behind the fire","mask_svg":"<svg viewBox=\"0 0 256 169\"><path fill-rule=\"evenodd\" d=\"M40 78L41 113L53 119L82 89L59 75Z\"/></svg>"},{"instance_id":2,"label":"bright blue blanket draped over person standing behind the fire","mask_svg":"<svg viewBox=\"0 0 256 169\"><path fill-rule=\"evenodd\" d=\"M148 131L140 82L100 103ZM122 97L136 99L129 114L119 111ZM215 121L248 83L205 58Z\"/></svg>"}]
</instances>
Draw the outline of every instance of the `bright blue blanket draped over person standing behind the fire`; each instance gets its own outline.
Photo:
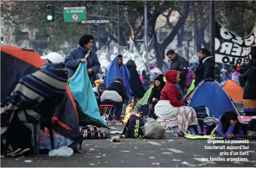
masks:
<instances>
[{"instance_id":1,"label":"bright blue blanket draped over person standing behind the fire","mask_svg":"<svg viewBox=\"0 0 256 169\"><path fill-rule=\"evenodd\" d=\"M126 88L127 96L130 97L130 93L132 92L131 87L129 85L130 80L130 72L127 67L122 64L121 71L117 63L117 56L110 63L109 69L107 70L106 76L104 78L104 83L106 86L109 86L112 82L114 82L114 78L122 78L124 81L124 86Z\"/></svg>"}]
</instances>

